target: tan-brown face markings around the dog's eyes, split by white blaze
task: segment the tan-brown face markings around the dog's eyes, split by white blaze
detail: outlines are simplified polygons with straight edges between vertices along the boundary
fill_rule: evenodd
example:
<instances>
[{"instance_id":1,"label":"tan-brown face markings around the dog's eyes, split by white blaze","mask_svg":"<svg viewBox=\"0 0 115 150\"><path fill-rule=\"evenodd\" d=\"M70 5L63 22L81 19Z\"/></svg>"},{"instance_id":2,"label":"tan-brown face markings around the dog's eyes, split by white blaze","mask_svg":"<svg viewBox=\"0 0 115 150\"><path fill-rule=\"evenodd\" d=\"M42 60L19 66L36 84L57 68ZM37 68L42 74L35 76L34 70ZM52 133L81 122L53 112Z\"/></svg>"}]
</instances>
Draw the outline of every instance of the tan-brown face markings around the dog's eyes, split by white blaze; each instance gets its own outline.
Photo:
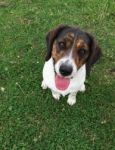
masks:
<instances>
[{"instance_id":1,"label":"tan-brown face markings around the dog's eyes, split by white blaze","mask_svg":"<svg viewBox=\"0 0 115 150\"><path fill-rule=\"evenodd\" d=\"M59 51L57 49L58 46L56 44L56 41L53 44L52 57L54 58L55 62L57 62L58 60L60 60L62 57L66 56L72 50L73 51L72 55L73 55L75 64L77 65L77 68L80 68L84 64L85 58L81 58L80 59L79 56L78 56L78 54L77 54L77 51L80 48L85 48L85 49L88 50L88 45L82 39L78 39L78 40L74 41L74 34L73 33L68 33L64 37L63 41L65 41L65 43L66 43L66 49L64 49L63 51ZM69 50L67 50L67 49L69 49Z\"/></svg>"}]
</instances>

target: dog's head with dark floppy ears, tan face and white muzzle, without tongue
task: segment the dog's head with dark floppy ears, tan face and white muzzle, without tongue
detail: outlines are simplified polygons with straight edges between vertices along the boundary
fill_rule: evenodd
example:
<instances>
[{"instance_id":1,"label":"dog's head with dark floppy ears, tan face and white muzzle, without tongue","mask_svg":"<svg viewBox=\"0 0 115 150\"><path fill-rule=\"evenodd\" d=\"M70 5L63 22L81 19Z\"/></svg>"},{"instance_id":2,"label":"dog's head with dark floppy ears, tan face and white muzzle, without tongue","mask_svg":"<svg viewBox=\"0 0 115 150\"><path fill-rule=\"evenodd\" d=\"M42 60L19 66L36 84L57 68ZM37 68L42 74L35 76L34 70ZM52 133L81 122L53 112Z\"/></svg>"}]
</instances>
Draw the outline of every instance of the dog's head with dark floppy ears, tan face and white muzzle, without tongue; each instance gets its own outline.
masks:
<instances>
[{"instance_id":1,"label":"dog's head with dark floppy ears, tan face and white muzzle, without tongue","mask_svg":"<svg viewBox=\"0 0 115 150\"><path fill-rule=\"evenodd\" d=\"M101 55L92 35L67 25L49 31L46 42L46 61L52 57L56 73L67 78L74 77L84 64L89 74L92 65Z\"/></svg>"}]
</instances>

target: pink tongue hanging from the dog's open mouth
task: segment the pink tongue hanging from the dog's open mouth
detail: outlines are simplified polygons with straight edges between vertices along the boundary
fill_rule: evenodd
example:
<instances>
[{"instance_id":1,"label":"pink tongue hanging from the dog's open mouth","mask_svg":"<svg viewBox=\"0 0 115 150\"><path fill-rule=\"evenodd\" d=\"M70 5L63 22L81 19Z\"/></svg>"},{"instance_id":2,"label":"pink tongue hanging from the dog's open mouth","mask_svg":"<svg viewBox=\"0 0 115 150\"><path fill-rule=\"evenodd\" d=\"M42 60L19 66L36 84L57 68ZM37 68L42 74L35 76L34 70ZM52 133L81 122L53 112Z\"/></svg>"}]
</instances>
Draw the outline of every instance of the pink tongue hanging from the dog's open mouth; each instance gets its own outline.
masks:
<instances>
[{"instance_id":1,"label":"pink tongue hanging from the dog's open mouth","mask_svg":"<svg viewBox=\"0 0 115 150\"><path fill-rule=\"evenodd\" d=\"M70 84L70 79L56 75L55 84L58 90L66 90Z\"/></svg>"}]
</instances>

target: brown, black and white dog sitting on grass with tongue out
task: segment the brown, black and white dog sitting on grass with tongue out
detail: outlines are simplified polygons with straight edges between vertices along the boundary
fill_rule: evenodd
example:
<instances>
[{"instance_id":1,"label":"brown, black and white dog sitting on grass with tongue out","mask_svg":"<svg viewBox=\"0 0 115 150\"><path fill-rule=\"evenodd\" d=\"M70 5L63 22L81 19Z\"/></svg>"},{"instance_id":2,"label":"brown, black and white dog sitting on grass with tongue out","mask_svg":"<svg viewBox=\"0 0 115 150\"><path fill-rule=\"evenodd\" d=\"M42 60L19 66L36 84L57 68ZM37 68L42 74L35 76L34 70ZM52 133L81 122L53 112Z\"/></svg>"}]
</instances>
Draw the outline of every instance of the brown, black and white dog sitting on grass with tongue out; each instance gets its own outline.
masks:
<instances>
[{"instance_id":1,"label":"brown, black and white dog sitting on grass with tongue out","mask_svg":"<svg viewBox=\"0 0 115 150\"><path fill-rule=\"evenodd\" d=\"M85 91L86 76L101 56L94 37L80 28L59 25L46 35L47 54L43 67L43 89L51 89L54 99L68 95L76 103L77 92Z\"/></svg>"}]
</instances>

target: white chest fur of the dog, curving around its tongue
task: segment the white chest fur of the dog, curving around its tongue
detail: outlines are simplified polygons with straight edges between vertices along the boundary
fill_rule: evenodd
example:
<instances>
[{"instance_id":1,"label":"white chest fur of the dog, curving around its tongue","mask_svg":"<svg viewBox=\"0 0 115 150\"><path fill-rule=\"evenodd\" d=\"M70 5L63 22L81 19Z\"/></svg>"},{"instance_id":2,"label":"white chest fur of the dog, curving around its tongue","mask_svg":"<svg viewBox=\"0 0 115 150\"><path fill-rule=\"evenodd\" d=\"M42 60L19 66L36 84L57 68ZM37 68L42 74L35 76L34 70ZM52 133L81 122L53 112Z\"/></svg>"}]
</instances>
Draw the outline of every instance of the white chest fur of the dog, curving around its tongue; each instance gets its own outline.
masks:
<instances>
[{"instance_id":1,"label":"white chest fur of the dog, curving around its tongue","mask_svg":"<svg viewBox=\"0 0 115 150\"><path fill-rule=\"evenodd\" d=\"M44 68L43 68L43 81L47 85L48 88L51 90L62 94L63 96L72 93L72 92L78 92L82 90L82 87L84 86L86 78L86 66L83 65L76 73L76 75L70 80L69 87L64 90L58 90L55 86L55 72L54 72L54 65L53 65L53 59L50 58L49 61L45 62Z\"/></svg>"}]
</instances>

